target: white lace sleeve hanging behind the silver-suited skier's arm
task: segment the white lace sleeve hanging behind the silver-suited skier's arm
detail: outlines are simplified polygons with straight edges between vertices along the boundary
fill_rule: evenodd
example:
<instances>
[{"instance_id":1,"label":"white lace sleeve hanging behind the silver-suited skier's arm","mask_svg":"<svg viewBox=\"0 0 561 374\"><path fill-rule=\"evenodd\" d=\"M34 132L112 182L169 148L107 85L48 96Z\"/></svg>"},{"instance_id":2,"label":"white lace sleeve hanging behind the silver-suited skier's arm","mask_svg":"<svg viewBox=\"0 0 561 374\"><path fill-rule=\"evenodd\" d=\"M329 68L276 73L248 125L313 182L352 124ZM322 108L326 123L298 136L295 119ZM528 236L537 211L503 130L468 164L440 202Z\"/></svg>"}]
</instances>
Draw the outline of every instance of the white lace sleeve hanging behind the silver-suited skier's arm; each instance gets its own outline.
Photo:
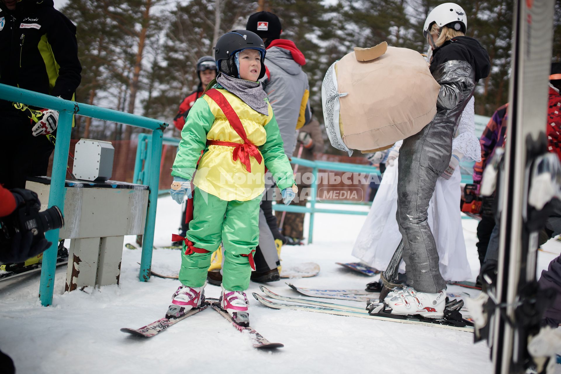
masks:
<instances>
[{"instance_id":1,"label":"white lace sleeve hanging behind the silver-suited skier's arm","mask_svg":"<svg viewBox=\"0 0 561 374\"><path fill-rule=\"evenodd\" d=\"M475 136L475 99L468 101L459 119L457 136L452 141L452 150L463 154L463 160L481 161L481 144Z\"/></svg>"}]
</instances>

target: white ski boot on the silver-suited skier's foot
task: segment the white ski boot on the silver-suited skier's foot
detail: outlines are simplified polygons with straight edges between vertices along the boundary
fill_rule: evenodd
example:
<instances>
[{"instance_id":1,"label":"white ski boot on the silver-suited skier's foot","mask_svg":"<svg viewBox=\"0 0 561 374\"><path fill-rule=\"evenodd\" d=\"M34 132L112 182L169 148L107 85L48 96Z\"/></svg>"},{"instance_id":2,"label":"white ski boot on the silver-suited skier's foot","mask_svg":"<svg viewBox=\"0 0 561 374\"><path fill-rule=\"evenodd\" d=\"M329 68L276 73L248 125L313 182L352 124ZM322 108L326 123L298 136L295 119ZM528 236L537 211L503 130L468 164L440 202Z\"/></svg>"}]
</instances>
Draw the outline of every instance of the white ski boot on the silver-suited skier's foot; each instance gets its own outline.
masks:
<instances>
[{"instance_id":1,"label":"white ski boot on the silver-suited skier's foot","mask_svg":"<svg viewBox=\"0 0 561 374\"><path fill-rule=\"evenodd\" d=\"M446 289L437 293L417 292L406 286L394 290L384 299L384 311L394 315L420 315L426 318L444 318Z\"/></svg>"}]
</instances>

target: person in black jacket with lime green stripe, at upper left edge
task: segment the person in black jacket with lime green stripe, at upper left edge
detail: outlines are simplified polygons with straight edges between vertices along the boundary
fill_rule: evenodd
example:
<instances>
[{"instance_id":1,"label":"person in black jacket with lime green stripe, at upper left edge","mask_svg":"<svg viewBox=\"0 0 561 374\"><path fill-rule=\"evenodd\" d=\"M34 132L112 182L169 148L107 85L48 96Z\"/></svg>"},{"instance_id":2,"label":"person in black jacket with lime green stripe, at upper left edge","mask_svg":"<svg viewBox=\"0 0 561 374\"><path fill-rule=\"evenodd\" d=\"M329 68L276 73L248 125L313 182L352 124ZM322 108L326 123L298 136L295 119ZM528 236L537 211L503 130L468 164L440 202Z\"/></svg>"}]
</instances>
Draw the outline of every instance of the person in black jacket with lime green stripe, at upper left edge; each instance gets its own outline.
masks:
<instances>
[{"instance_id":1,"label":"person in black jacket with lime green stripe, at upper left edge","mask_svg":"<svg viewBox=\"0 0 561 374\"><path fill-rule=\"evenodd\" d=\"M0 0L0 83L73 100L80 84L76 26L53 0ZM0 100L0 183L47 174L58 112Z\"/></svg>"}]
</instances>

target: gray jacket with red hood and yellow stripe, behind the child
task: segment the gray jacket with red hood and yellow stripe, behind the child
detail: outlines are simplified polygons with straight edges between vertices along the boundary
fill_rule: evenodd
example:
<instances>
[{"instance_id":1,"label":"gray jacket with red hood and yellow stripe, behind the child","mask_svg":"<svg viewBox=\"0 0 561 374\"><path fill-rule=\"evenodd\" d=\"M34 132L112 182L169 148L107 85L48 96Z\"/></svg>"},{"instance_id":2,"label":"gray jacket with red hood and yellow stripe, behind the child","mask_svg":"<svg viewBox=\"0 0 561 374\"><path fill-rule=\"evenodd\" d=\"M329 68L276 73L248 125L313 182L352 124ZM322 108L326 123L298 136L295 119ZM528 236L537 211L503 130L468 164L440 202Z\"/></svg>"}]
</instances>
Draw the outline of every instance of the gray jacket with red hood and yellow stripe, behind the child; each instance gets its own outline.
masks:
<instances>
[{"instance_id":1,"label":"gray jacket with red hood and yellow stripe, behind the child","mask_svg":"<svg viewBox=\"0 0 561 374\"><path fill-rule=\"evenodd\" d=\"M296 147L296 129L311 118L308 105L310 85L302 71L305 64L304 54L291 40L275 39L267 48L266 75L261 82L275 111L288 158L292 157Z\"/></svg>"}]
</instances>

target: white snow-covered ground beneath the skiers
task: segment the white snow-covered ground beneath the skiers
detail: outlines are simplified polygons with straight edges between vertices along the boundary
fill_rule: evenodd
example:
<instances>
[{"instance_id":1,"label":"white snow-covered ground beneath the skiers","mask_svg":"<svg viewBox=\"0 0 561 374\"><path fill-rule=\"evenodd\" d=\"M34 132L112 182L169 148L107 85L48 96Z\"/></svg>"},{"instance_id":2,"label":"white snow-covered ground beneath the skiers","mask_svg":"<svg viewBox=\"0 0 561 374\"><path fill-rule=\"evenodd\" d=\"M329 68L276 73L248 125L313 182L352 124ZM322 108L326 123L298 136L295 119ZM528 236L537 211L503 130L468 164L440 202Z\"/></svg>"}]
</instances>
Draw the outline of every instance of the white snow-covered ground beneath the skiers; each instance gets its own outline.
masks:
<instances>
[{"instance_id":1,"label":"white snow-covered ground beneath the skiers","mask_svg":"<svg viewBox=\"0 0 561 374\"><path fill-rule=\"evenodd\" d=\"M329 204L329 207L334 207ZM350 207L342 209L364 209ZM169 197L158 201L155 245L169 245L180 207ZM335 262L356 261L351 249L365 216L317 214L314 243L283 247L283 266L314 261L314 278L293 279L301 287L364 288L375 278L351 273ZM479 271L474 220L463 220L473 275ZM307 229L306 229L307 233ZM127 237L125 243L134 243ZM539 252L539 271L561 251L550 241ZM551 252L551 253L549 253ZM63 293L66 269L57 270L52 307L37 298L39 276L0 283L0 349L9 354L18 374L26 373L490 373L485 343L473 335L436 327L342 317L305 311L272 310L250 298L251 325L284 348L263 352L224 318L203 311L150 339L119 331L161 318L179 285L177 280L138 280L140 250L123 249L121 284ZM153 270L178 271L180 251L158 249ZM270 283L273 292L297 296L283 281ZM461 289L472 293L470 289ZM209 297L220 289L208 285ZM259 285L250 284L250 292ZM475 293L473 293L475 295ZM250 295L250 294L248 294ZM344 302L343 302L344 303ZM348 302L362 306L356 302ZM1 368L0 368L1 371Z\"/></svg>"}]
</instances>

